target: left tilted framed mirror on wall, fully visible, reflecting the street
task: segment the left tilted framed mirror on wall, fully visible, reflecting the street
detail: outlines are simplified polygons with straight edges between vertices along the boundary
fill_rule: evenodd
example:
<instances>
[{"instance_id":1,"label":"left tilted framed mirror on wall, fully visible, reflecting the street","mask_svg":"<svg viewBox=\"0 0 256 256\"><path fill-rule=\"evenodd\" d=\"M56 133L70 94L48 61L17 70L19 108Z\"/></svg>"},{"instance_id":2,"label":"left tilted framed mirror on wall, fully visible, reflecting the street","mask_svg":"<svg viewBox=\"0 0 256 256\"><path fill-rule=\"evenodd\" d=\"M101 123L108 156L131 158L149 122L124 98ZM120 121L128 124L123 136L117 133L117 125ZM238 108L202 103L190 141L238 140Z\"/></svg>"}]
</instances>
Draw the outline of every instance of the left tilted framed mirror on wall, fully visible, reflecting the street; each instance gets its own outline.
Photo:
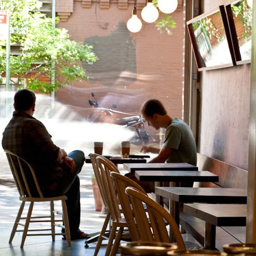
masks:
<instances>
[{"instance_id":1,"label":"left tilted framed mirror on wall, fully visible, reflecting the street","mask_svg":"<svg viewBox=\"0 0 256 256\"><path fill-rule=\"evenodd\" d=\"M225 6L187 22L199 71L236 65Z\"/></svg>"}]
</instances>

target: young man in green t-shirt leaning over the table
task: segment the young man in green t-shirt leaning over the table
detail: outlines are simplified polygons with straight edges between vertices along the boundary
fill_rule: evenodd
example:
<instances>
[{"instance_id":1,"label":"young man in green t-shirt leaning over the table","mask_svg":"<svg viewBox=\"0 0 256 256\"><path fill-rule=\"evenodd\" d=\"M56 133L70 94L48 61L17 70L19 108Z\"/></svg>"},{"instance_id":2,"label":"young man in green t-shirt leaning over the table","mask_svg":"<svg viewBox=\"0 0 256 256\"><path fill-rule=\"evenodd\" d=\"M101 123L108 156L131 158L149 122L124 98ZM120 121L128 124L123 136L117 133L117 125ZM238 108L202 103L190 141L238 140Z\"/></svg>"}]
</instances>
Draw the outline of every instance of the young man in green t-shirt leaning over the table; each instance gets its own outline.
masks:
<instances>
[{"instance_id":1,"label":"young man in green t-shirt leaning over the table","mask_svg":"<svg viewBox=\"0 0 256 256\"><path fill-rule=\"evenodd\" d=\"M143 103L141 114L149 126L165 128L162 147L144 145L143 153L155 153L157 157L150 162L187 162L196 165L196 144L191 128L183 121L170 117L162 103L149 99Z\"/></svg>"}]
</instances>

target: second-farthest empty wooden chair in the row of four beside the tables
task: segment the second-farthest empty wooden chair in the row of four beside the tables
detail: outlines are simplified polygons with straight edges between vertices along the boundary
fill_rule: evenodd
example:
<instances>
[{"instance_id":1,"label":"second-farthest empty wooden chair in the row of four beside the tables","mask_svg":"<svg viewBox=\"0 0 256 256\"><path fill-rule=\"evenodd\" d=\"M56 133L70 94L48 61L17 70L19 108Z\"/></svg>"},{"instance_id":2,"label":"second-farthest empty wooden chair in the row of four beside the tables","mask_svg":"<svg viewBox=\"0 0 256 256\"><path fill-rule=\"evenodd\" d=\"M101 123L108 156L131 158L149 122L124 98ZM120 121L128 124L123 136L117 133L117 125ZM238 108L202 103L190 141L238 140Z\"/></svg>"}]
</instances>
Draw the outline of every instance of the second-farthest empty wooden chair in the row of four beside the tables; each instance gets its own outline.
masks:
<instances>
[{"instance_id":1,"label":"second-farthest empty wooden chair in the row of four beside the tables","mask_svg":"<svg viewBox=\"0 0 256 256\"><path fill-rule=\"evenodd\" d=\"M112 228L110 231L105 256L115 256L117 254L121 239L125 239L125 228L128 229L128 224L126 222L126 219L122 216L122 211L117 200L117 192L114 186L113 179L110 176L111 172L119 173L119 171L110 160L107 160L104 157L96 157L96 162L98 163L100 169L103 189L107 197L112 221ZM128 237L126 238L130 240L130 235L128 235Z\"/></svg>"}]
</instances>

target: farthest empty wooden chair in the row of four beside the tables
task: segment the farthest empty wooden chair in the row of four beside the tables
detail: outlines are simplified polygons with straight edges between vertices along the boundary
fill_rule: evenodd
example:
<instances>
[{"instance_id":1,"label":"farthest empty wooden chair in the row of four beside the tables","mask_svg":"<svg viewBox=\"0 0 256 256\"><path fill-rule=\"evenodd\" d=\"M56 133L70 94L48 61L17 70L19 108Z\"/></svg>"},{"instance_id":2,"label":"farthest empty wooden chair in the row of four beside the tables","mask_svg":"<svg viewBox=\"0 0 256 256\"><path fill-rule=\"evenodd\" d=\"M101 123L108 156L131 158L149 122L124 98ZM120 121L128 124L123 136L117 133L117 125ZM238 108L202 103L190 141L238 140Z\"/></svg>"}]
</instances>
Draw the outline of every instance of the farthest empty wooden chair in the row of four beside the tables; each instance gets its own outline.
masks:
<instances>
[{"instance_id":1,"label":"farthest empty wooden chair in the row of four beside the tables","mask_svg":"<svg viewBox=\"0 0 256 256\"><path fill-rule=\"evenodd\" d=\"M95 178L96 178L98 188L99 188L99 192L100 192L100 195L102 197L103 204L104 204L104 212L106 213L106 218L105 218L105 221L103 223L103 226L101 228L100 233L96 234L95 236L90 237L89 239L86 239L86 241L85 241L85 244L86 244L85 246L86 247L88 247L89 243L93 243L93 242L97 241L97 245L96 245L95 252L94 252L94 256L96 256L98 254L98 251L99 251L100 246L102 244L102 240L109 238L110 230L107 230L107 225L110 221L110 216L111 215L110 215L110 209L108 207L108 200L107 200L107 197L106 197L106 193L104 192L104 188L103 188L103 181L102 181L101 172L100 172L100 169L99 169L98 162L96 161L96 157L101 157L101 156L98 155L98 154L95 154L95 153L92 153L89 156L91 158ZM118 171L116 165L114 165L111 161L107 160L106 158L104 158L104 159L112 166L112 168L114 168L116 171Z\"/></svg>"}]
</instances>

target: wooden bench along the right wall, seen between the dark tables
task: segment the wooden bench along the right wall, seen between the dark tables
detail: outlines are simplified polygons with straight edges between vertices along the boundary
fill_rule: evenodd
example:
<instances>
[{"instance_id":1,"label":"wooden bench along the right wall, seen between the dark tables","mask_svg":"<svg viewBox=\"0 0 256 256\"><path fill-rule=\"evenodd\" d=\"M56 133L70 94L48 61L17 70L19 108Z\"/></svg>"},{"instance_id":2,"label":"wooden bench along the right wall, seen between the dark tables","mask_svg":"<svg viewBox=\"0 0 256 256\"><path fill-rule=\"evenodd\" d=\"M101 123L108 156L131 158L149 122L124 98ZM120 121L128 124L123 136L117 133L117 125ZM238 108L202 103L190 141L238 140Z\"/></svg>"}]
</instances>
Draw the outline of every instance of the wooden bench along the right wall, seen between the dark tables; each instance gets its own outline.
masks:
<instances>
[{"instance_id":1,"label":"wooden bench along the right wall, seen between the dark tables","mask_svg":"<svg viewBox=\"0 0 256 256\"><path fill-rule=\"evenodd\" d=\"M223 161L197 153L198 170L208 170L219 175L218 183L194 182L193 187L243 188L247 189L248 171ZM180 213L180 224L201 245L205 245L205 222L187 213ZM216 249L222 251L226 243L245 243L245 226L216 227Z\"/></svg>"}]
</instances>

